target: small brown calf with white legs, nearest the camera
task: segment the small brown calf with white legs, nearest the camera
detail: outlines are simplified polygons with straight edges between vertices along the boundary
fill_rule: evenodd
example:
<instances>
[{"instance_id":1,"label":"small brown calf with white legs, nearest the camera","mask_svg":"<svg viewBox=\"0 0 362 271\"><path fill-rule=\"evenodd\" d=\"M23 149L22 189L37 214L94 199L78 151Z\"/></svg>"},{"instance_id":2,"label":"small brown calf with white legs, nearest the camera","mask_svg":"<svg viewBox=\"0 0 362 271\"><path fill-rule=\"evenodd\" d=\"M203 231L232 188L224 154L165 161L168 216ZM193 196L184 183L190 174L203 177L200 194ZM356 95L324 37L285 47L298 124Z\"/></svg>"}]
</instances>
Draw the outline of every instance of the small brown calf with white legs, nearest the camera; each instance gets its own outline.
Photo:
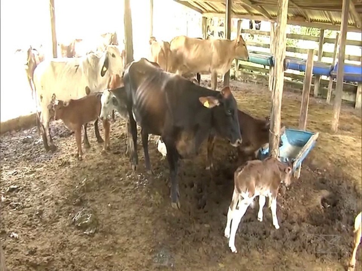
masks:
<instances>
[{"instance_id":1,"label":"small brown calf with white legs, nearest the camera","mask_svg":"<svg viewBox=\"0 0 362 271\"><path fill-rule=\"evenodd\" d=\"M258 220L263 220L265 198L269 198L269 207L275 229L279 229L277 218L277 194L279 185L290 184L292 168L276 158L248 161L245 166L236 169L234 173L234 192L227 212L227 222L224 236L229 238L229 248L237 253L235 234L240 220L248 206L256 196L259 196ZM231 226L231 229L230 229Z\"/></svg>"}]
</instances>

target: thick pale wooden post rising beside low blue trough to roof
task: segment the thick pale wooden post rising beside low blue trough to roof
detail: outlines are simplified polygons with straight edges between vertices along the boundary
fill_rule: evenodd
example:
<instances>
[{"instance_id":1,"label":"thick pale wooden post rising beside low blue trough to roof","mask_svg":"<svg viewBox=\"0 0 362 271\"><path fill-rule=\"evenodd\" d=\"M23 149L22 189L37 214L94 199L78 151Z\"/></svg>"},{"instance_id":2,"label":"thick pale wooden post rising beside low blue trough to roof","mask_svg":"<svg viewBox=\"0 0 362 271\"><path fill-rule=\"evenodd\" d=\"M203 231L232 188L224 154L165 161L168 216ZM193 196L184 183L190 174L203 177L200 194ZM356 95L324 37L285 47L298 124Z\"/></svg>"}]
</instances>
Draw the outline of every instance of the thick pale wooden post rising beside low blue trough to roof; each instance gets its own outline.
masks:
<instances>
[{"instance_id":1,"label":"thick pale wooden post rising beside low blue trough to roof","mask_svg":"<svg viewBox=\"0 0 362 271\"><path fill-rule=\"evenodd\" d=\"M278 0L278 31L275 46L275 89L270 116L269 155L279 158L280 119L284 86L284 59L286 51L286 27L288 0Z\"/></svg>"}]
</instances>

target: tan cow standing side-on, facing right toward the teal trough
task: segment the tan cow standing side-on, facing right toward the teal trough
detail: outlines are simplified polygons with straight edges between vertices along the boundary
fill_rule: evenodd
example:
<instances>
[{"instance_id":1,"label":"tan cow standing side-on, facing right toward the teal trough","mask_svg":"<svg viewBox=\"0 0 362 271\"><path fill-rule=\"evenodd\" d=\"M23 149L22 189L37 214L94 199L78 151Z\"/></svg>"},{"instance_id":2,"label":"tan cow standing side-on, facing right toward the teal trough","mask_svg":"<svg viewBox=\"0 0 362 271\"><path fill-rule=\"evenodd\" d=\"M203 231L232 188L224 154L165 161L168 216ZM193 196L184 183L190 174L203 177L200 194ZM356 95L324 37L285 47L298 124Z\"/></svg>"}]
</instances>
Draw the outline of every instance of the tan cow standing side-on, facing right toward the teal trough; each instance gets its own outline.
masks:
<instances>
[{"instance_id":1,"label":"tan cow standing side-on, facing right toward the teal trough","mask_svg":"<svg viewBox=\"0 0 362 271\"><path fill-rule=\"evenodd\" d=\"M170 42L171 71L185 73L211 73L211 88L216 89L217 75L225 74L233 59L247 60L247 46L240 35L235 40L197 39L177 36Z\"/></svg>"}]
</instances>

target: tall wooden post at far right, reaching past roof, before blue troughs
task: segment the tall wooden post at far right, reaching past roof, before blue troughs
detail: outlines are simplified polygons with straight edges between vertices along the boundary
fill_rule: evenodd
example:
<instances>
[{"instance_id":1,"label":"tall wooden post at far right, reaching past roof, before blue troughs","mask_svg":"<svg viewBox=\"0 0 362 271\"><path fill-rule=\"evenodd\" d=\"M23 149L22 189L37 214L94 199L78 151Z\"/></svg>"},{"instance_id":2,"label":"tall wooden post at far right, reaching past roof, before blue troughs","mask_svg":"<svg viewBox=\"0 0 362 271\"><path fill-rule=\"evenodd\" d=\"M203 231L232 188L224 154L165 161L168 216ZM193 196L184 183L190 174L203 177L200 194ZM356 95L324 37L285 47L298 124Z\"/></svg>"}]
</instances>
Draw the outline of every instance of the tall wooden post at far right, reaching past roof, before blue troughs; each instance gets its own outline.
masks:
<instances>
[{"instance_id":1,"label":"tall wooden post at far right, reaching past roof, before blue troughs","mask_svg":"<svg viewBox=\"0 0 362 271\"><path fill-rule=\"evenodd\" d=\"M349 1L350 0L343 0L342 4L341 39L340 39L340 47L338 52L336 96L334 98L333 120L331 127L334 133L336 133L338 130L338 121L342 105L344 58L345 58L345 48L346 48L346 38L347 38Z\"/></svg>"}]
</instances>

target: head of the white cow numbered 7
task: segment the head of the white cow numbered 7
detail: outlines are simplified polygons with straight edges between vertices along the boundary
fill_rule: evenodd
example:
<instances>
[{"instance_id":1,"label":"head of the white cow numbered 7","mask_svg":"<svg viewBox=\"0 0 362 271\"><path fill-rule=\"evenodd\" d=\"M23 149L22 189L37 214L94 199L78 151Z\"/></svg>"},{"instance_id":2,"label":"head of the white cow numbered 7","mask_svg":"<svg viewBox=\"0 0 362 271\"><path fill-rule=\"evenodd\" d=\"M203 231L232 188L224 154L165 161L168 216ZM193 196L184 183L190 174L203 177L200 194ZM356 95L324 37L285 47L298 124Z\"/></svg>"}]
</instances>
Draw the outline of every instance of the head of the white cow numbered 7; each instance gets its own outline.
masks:
<instances>
[{"instance_id":1,"label":"head of the white cow numbered 7","mask_svg":"<svg viewBox=\"0 0 362 271\"><path fill-rule=\"evenodd\" d=\"M120 51L116 45L108 45L105 51L105 59L101 69L101 76L110 73L122 74L125 70L125 51Z\"/></svg>"}]
</instances>

